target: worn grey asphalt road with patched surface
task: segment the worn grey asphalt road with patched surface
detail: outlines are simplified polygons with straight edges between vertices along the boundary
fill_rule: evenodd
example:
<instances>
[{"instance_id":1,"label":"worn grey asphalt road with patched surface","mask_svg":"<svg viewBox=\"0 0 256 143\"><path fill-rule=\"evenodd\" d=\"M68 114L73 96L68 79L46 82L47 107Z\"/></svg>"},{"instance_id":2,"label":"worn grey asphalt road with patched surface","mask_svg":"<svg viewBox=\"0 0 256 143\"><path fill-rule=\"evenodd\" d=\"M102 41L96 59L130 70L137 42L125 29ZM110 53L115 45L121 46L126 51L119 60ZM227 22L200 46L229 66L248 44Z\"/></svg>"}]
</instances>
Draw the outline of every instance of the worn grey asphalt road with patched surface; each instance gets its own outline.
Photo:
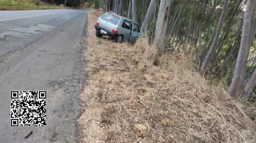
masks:
<instances>
[{"instance_id":1,"label":"worn grey asphalt road with patched surface","mask_svg":"<svg viewBox=\"0 0 256 143\"><path fill-rule=\"evenodd\" d=\"M0 11L0 142L77 141L88 12ZM13 90L47 91L46 126L10 126Z\"/></svg>"}]
</instances>

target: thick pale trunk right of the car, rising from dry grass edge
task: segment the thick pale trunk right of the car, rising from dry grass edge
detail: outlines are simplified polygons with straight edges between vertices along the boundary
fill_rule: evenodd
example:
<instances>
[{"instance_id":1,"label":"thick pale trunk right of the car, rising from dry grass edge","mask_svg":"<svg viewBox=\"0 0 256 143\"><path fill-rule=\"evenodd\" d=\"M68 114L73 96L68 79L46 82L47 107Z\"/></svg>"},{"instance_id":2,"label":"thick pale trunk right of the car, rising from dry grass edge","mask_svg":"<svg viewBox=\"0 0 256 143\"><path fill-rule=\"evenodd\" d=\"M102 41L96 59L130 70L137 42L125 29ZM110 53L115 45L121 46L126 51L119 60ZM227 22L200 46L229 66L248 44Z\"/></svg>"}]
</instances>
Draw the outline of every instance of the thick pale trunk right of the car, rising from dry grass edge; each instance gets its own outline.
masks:
<instances>
[{"instance_id":1,"label":"thick pale trunk right of the car, rising from dry grass edge","mask_svg":"<svg viewBox=\"0 0 256 143\"><path fill-rule=\"evenodd\" d=\"M156 25L156 36L154 40L154 44L158 45L159 52L164 52L164 45L163 40L166 38L166 28L168 24L169 18L169 11L170 11L170 1L169 0L162 0L160 2L158 18L157 18L157 25Z\"/></svg>"}]
</instances>

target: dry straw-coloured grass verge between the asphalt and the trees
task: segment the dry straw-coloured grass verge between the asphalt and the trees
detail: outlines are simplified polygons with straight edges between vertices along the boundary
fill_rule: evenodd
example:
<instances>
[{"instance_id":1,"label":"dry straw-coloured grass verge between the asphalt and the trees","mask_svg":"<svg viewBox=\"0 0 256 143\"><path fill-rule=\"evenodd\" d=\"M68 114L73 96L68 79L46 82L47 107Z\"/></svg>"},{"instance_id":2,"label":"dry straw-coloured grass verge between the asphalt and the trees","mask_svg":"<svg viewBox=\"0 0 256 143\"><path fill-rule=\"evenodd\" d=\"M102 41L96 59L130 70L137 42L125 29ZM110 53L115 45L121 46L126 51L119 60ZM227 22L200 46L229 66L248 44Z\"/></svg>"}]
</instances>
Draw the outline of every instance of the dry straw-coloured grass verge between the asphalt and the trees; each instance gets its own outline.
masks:
<instances>
[{"instance_id":1,"label":"dry straw-coloured grass verge between the asphalt and the trees","mask_svg":"<svg viewBox=\"0 0 256 143\"><path fill-rule=\"evenodd\" d=\"M89 14L80 142L256 142L255 121L182 54L96 38Z\"/></svg>"}]
</instances>

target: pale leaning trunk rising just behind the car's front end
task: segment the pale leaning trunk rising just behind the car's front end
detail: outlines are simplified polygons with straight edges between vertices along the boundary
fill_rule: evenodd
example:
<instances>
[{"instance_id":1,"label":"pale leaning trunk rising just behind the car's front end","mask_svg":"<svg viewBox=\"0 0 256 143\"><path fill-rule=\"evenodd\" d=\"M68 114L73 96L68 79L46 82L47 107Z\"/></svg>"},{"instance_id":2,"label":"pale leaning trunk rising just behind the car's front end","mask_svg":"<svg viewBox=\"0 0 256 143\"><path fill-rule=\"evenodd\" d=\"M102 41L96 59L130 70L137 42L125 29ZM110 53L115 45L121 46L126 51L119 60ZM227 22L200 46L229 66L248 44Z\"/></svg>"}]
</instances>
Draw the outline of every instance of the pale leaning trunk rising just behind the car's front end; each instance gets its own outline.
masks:
<instances>
[{"instance_id":1,"label":"pale leaning trunk rising just behind the car's front end","mask_svg":"<svg viewBox=\"0 0 256 143\"><path fill-rule=\"evenodd\" d=\"M156 1L151 0L150 7L148 7L148 9L147 9L145 19L142 22L142 25L140 28L141 31L148 30L150 28L150 22L154 18L155 6L156 6Z\"/></svg>"}]
</instances>

